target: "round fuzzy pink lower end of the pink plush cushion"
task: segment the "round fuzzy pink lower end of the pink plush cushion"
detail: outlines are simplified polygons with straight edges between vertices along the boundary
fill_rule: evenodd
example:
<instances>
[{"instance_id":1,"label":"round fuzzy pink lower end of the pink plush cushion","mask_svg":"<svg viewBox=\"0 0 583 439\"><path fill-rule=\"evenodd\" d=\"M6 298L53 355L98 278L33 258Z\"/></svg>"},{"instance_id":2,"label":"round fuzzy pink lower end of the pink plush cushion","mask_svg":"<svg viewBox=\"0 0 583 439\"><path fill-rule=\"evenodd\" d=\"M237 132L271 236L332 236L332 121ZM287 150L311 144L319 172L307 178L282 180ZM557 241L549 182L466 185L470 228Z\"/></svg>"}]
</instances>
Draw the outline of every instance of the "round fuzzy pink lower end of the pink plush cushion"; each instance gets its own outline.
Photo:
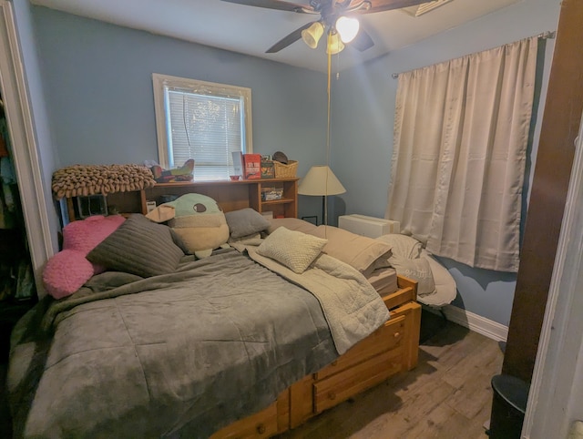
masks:
<instances>
[{"instance_id":1,"label":"round fuzzy pink lower end of the pink plush cushion","mask_svg":"<svg viewBox=\"0 0 583 439\"><path fill-rule=\"evenodd\" d=\"M93 265L81 251L62 250L46 262L43 281L55 299L69 296L93 276Z\"/></svg>"}]
</instances>

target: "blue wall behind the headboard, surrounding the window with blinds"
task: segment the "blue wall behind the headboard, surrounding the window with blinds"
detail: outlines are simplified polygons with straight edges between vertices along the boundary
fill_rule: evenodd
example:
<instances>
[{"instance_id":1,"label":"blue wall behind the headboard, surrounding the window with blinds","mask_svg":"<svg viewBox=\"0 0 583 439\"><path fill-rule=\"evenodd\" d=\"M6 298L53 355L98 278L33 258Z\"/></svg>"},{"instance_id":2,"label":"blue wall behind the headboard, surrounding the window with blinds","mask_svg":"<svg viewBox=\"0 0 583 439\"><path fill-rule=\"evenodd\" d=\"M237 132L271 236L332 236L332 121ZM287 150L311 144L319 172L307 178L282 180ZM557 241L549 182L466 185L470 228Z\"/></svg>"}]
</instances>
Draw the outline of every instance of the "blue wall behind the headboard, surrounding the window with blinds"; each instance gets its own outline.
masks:
<instances>
[{"instance_id":1,"label":"blue wall behind the headboard, surrounding the window with blinds","mask_svg":"<svg viewBox=\"0 0 583 439\"><path fill-rule=\"evenodd\" d=\"M321 73L45 7L33 15L61 166L158 159L152 73L251 87L253 150L285 152L300 176L323 162ZM317 199L305 199L300 214L319 209Z\"/></svg>"}]
</instances>

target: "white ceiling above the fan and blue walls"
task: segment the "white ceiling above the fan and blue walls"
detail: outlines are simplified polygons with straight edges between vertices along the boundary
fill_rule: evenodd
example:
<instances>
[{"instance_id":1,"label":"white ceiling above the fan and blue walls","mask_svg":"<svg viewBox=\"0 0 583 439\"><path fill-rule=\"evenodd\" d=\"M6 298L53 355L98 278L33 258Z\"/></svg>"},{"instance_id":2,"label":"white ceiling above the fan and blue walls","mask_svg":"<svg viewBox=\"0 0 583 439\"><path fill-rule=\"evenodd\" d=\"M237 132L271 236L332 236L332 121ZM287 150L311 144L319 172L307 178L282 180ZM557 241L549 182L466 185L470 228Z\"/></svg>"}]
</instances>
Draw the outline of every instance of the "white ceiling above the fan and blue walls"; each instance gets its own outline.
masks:
<instances>
[{"instance_id":1,"label":"white ceiling above the fan and blue walls","mask_svg":"<svg viewBox=\"0 0 583 439\"><path fill-rule=\"evenodd\" d=\"M340 53L339 59L333 61L334 66L338 69L354 66L519 1L522 0L452 0L418 17L405 14L402 10L359 15L361 26L373 38L374 46L364 52L347 47ZM326 55L322 42L317 49L311 49L299 40L276 54L265 53L265 50L283 36L317 19L317 15L236 5L221 0L31 2L119 26L260 56L291 66L326 71ZM293 3L307 5L309 2L296 0Z\"/></svg>"}]
</instances>

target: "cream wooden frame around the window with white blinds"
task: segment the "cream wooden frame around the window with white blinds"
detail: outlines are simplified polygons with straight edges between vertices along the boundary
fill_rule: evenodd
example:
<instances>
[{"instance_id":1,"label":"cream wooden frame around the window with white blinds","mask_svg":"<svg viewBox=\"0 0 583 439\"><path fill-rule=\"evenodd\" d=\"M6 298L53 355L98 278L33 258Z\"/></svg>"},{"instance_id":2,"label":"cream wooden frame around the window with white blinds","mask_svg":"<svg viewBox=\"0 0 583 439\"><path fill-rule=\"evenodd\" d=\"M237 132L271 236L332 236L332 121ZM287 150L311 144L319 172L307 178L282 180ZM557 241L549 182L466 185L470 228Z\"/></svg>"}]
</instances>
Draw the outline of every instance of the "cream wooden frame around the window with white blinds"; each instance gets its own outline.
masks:
<instances>
[{"instance_id":1,"label":"cream wooden frame around the window with white blinds","mask_svg":"<svg viewBox=\"0 0 583 439\"><path fill-rule=\"evenodd\" d=\"M239 96L243 98L243 123L245 127L244 144L241 145L242 153L253 152L252 144L252 118L251 118L251 88L230 86L208 81L200 81L186 77L172 77L159 73L152 74L152 86L154 88L154 111L156 115L156 133L158 138L158 158L162 168L171 168L169 159L166 88L179 87L198 92L200 89L208 91L208 94L216 97ZM243 137L241 137L243 138ZM229 161L232 166L231 161ZM178 164L180 166L181 164ZM195 163L196 172L196 163Z\"/></svg>"}]
</instances>

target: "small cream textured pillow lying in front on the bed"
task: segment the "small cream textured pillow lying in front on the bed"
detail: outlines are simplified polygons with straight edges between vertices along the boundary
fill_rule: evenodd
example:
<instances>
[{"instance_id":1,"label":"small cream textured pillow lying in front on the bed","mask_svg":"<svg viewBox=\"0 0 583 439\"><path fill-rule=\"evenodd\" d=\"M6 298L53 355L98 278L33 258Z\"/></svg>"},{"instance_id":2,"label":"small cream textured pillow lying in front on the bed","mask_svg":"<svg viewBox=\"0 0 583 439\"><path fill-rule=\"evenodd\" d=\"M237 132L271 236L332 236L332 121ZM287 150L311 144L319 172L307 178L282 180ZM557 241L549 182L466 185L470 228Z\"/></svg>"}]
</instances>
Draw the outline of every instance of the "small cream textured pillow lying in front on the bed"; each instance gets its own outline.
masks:
<instances>
[{"instance_id":1,"label":"small cream textured pillow lying in front on the bed","mask_svg":"<svg viewBox=\"0 0 583 439\"><path fill-rule=\"evenodd\" d=\"M294 273L302 274L315 260L328 240L301 231L278 227L261 242L257 252L277 260Z\"/></svg>"}]
</instances>

